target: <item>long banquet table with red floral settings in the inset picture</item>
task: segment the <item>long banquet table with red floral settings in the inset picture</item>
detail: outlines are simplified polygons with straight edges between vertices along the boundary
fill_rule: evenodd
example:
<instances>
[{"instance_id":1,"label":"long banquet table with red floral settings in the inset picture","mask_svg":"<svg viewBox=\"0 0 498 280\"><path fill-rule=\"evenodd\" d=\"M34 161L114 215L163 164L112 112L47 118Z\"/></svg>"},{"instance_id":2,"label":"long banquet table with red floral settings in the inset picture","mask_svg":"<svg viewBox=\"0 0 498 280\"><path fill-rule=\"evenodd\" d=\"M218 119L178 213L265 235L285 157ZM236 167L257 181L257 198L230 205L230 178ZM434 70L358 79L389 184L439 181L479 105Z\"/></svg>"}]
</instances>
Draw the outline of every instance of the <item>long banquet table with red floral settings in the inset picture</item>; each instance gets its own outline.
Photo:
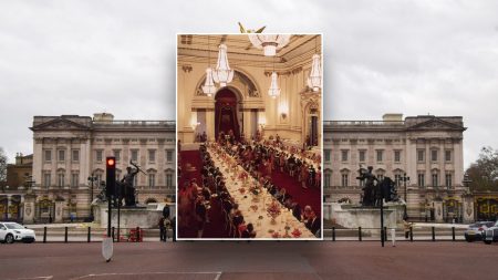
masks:
<instances>
[{"instance_id":1,"label":"long banquet table with red floral settings in the inset picture","mask_svg":"<svg viewBox=\"0 0 498 280\"><path fill-rule=\"evenodd\" d=\"M227 190L238 204L246 224L251 222L257 239L317 239L317 237L299 221L292 211L281 205L256 178L251 177L237 160L218 144L207 146L216 167L219 167ZM246 174L247 176L241 176ZM259 194L253 194L257 189ZM268 209L280 208L280 215L272 218Z\"/></svg>"}]
</instances>

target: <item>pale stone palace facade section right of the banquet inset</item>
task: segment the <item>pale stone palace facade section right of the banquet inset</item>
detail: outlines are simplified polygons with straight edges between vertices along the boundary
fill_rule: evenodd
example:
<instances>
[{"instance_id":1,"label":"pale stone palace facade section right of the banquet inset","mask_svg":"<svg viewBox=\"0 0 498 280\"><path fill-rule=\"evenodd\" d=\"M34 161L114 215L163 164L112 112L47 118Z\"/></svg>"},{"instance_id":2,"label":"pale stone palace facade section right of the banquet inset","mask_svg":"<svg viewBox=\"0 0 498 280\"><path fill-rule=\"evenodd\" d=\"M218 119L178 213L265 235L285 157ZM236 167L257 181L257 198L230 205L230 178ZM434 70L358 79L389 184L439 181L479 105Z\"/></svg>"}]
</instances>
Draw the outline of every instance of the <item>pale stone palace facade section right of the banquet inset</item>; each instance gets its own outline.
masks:
<instances>
[{"instance_id":1,"label":"pale stone palace facade section right of the banquet inset","mask_svg":"<svg viewBox=\"0 0 498 280\"><path fill-rule=\"evenodd\" d=\"M324 200L362 199L360 168L391 177L411 219L474 217L464 186L461 116L385 114L382 121L324 123ZM409 177L409 178L408 178Z\"/></svg>"}]
</instances>

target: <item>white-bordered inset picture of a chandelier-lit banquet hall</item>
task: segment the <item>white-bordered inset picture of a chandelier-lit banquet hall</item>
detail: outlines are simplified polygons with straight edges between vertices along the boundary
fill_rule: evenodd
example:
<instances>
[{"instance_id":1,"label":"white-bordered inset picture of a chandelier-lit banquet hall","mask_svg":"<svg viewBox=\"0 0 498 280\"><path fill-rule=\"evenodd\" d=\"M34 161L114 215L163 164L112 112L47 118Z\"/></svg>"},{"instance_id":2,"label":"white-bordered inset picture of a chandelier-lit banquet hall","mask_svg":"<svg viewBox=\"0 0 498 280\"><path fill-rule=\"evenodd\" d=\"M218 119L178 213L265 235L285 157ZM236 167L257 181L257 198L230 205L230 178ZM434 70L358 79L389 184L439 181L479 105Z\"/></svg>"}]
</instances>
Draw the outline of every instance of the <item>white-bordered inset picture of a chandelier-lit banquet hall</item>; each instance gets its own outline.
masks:
<instances>
[{"instance_id":1,"label":"white-bordered inset picture of a chandelier-lit banquet hall","mask_svg":"<svg viewBox=\"0 0 498 280\"><path fill-rule=\"evenodd\" d=\"M322 35L177 35L179 239L320 239Z\"/></svg>"}]
</instances>

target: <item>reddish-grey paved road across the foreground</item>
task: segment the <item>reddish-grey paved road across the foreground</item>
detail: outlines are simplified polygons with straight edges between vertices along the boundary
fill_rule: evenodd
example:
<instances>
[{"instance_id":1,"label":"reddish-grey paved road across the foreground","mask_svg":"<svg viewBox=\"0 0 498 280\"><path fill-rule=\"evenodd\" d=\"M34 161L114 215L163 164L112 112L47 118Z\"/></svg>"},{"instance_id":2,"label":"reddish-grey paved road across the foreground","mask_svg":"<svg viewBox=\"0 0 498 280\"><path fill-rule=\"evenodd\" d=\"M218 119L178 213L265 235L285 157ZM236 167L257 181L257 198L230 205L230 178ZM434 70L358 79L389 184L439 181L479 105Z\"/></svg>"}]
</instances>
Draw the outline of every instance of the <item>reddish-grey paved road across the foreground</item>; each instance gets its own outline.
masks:
<instances>
[{"instance_id":1,"label":"reddish-grey paved road across the foreground","mask_svg":"<svg viewBox=\"0 0 498 280\"><path fill-rule=\"evenodd\" d=\"M0 279L497 279L483 242L197 241L0 245Z\"/></svg>"}]
</instances>

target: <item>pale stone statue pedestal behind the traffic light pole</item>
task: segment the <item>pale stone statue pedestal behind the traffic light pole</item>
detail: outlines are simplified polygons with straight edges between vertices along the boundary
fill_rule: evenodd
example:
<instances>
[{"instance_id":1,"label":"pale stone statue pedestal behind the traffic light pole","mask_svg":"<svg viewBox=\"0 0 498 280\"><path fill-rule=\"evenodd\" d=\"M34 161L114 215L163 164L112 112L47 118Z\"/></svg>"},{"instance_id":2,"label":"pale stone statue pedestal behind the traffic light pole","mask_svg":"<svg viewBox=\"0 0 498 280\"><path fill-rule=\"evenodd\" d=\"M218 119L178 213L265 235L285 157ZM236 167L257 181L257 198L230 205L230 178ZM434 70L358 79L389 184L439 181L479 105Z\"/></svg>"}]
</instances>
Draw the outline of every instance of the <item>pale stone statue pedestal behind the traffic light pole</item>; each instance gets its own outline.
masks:
<instances>
[{"instance_id":1,"label":"pale stone statue pedestal behind the traffic light pole","mask_svg":"<svg viewBox=\"0 0 498 280\"><path fill-rule=\"evenodd\" d=\"M103 204L100 205L102 207ZM107 207L100 209L100 219L102 228L107 227ZM117 228L117 208L112 209L111 226ZM157 228L162 210L151 209L146 206L122 207L120 212L120 228ZM95 216L96 217L96 216Z\"/></svg>"}]
</instances>

